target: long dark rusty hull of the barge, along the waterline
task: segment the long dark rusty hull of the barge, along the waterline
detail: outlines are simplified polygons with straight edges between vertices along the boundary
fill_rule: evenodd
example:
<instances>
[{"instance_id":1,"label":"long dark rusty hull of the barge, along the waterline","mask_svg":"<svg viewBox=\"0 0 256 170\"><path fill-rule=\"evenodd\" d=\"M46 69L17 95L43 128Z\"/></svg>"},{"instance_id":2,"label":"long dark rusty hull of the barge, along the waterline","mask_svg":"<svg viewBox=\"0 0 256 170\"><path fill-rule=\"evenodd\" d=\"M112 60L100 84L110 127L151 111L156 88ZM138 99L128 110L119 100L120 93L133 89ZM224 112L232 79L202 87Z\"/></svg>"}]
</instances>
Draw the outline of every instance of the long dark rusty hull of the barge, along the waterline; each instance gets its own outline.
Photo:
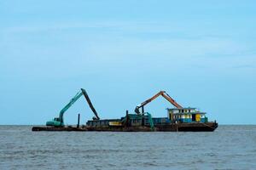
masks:
<instances>
[{"instance_id":1,"label":"long dark rusty hull of the barge, along the waterline","mask_svg":"<svg viewBox=\"0 0 256 170\"><path fill-rule=\"evenodd\" d=\"M150 127L32 127L32 131L101 131L101 132L212 132L218 127L216 122L177 123Z\"/></svg>"}]
</instances>

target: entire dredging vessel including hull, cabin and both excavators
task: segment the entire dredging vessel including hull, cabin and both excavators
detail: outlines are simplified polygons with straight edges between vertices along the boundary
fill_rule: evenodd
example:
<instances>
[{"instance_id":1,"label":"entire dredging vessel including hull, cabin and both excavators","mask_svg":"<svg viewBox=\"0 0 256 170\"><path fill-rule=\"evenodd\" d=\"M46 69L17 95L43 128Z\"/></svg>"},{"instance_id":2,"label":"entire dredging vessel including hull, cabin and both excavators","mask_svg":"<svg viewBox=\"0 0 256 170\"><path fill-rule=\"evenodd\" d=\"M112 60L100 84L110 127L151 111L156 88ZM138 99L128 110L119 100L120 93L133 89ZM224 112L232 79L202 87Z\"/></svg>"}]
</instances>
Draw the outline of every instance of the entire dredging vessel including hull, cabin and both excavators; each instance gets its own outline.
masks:
<instances>
[{"instance_id":1,"label":"entire dredging vessel including hull, cabin and both excavators","mask_svg":"<svg viewBox=\"0 0 256 170\"><path fill-rule=\"evenodd\" d=\"M64 113L82 95L84 95L84 98L87 100L95 116L81 127L79 126L79 120L77 127L66 127L63 121ZM144 111L144 106L148 105L148 103L159 96L164 97L175 106L175 108L166 109L166 117L153 117L150 113ZM218 123L216 121L208 122L206 114L206 112L198 111L196 108L183 107L177 104L165 91L160 91L152 98L137 105L135 113L133 114L126 111L125 116L119 119L100 119L96 109L91 104L88 94L81 88L81 91L61 110L59 117L55 117L52 121L46 122L46 127L32 127L32 131L212 132L218 127Z\"/></svg>"}]
</instances>

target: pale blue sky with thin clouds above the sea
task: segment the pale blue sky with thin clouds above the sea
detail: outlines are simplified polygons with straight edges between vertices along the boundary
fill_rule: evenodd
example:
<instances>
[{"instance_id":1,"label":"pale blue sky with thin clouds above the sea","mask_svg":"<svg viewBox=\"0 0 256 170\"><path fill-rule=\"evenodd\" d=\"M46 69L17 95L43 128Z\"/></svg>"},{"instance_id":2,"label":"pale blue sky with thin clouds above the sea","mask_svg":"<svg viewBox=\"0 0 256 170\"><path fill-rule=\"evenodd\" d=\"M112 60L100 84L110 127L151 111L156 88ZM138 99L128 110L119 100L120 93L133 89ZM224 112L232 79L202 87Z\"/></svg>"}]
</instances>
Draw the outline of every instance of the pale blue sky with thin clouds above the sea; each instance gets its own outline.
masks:
<instances>
[{"instance_id":1,"label":"pale blue sky with thin clouds above the sea","mask_svg":"<svg viewBox=\"0 0 256 170\"><path fill-rule=\"evenodd\" d=\"M0 124L45 124L80 88L102 119L165 90L210 121L256 124L255 30L247 0L1 0ZM79 113L93 116L84 98L66 124Z\"/></svg>"}]
</instances>

